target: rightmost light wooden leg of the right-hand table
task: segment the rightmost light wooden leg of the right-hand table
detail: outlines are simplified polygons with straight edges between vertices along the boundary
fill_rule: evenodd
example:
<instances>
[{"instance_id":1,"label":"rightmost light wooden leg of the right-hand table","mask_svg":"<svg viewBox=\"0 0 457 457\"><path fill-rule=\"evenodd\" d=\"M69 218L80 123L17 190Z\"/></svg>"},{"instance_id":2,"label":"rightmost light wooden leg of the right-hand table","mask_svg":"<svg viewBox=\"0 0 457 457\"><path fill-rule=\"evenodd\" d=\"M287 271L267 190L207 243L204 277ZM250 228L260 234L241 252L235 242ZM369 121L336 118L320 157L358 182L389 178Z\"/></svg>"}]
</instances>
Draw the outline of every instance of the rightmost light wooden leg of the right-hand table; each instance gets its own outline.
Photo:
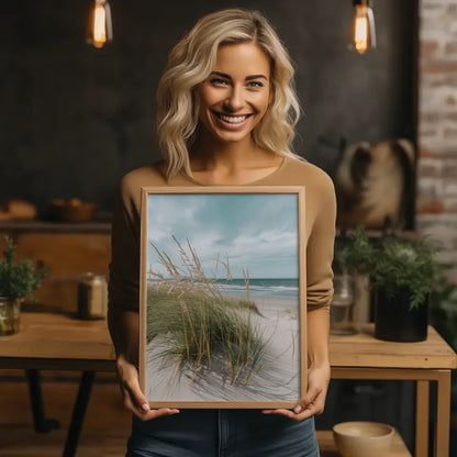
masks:
<instances>
[{"instance_id":1,"label":"rightmost light wooden leg of the right-hand table","mask_svg":"<svg viewBox=\"0 0 457 457\"><path fill-rule=\"evenodd\" d=\"M439 370L437 379L435 457L449 455L450 370Z\"/></svg>"}]
</instances>

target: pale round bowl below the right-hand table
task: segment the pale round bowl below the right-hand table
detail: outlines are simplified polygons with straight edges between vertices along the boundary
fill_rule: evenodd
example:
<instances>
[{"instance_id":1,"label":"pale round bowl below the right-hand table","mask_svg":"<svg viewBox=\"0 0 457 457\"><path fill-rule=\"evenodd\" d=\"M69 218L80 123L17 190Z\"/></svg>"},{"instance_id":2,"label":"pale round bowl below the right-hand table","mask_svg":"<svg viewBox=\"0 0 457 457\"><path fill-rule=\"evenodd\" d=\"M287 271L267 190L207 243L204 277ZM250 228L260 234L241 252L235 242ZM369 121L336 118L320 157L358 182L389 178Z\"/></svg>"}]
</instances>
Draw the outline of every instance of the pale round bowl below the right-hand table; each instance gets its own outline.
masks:
<instances>
[{"instance_id":1,"label":"pale round bowl below the right-hand table","mask_svg":"<svg viewBox=\"0 0 457 457\"><path fill-rule=\"evenodd\" d=\"M387 457L394 430L377 422L342 422L333 427L336 448L344 457Z\"/></svg>"}]
</instances>

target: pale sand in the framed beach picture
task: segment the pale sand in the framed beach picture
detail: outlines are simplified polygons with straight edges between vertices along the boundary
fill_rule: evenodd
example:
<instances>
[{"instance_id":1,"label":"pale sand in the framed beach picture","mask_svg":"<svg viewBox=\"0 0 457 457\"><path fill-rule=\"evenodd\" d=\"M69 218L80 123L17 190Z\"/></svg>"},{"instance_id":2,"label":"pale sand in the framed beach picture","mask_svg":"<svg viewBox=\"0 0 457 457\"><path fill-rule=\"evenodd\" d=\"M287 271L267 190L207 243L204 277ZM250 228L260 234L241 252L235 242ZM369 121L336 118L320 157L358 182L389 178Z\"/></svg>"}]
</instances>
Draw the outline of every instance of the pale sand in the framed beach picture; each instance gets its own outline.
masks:
<instances>
[{"instance_id":1,"label":"pale sand in the framed beach picture","mask_svg":"<svg viewBox=\"0 0 457 457\"><path fill-rule=\"evenodd\" d=\"M300 398L298 301L253 297L259 314L252 312L266 343L261 366L248 381L230 382L222 356L199 374L180 369L160 357L166 336L146 347L146 398L148 401L297 401Z\"/></svg>"}]
</instances>

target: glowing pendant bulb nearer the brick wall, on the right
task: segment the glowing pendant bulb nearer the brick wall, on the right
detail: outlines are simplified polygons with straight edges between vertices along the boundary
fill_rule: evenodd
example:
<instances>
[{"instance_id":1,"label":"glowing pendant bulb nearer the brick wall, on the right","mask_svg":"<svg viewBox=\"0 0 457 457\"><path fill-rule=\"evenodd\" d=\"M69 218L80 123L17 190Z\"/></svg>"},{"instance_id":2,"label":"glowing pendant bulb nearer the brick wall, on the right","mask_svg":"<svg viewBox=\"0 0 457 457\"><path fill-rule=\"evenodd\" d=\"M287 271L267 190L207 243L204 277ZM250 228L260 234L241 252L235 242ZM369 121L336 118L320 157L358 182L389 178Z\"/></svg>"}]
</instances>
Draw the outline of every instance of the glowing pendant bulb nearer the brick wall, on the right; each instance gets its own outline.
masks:
<instances>
[{"instance_id":1,"label":"glowing pendant bulb nearer the brick wall, on the right","mask_svg":"<svg viewBox=\"0 0 457 457\"><path fill-rule=\"evenodd\" d=\"M354 18L349 47L365 54L376 47L375 15L371 0L353 0Z\"/></svg>"}]
</instances>

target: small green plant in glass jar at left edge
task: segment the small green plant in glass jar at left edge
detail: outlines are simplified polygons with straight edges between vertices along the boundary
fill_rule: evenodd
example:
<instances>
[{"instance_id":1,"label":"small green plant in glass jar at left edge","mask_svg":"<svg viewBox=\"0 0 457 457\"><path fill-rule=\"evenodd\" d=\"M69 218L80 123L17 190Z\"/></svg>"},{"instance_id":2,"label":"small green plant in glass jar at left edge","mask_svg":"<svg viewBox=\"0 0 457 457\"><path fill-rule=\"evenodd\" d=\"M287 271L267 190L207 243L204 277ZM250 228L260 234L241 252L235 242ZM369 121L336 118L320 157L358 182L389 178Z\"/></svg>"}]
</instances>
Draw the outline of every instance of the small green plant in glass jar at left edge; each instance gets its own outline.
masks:
<instances>
[{"instance_id":1,"label":"small green plant in glass jar at left edge","mask_svg":"<svg viewBox=\"0 0 457 457\"><path fill-rule=\"evenodd\" d=\"M4 237L5 248L0 258L0 336L19 331L21 303L33 300L33 292L46 276L45 268L36 268L32 260L15 261L12 239Z\"/></svg>"}]
</instances>

